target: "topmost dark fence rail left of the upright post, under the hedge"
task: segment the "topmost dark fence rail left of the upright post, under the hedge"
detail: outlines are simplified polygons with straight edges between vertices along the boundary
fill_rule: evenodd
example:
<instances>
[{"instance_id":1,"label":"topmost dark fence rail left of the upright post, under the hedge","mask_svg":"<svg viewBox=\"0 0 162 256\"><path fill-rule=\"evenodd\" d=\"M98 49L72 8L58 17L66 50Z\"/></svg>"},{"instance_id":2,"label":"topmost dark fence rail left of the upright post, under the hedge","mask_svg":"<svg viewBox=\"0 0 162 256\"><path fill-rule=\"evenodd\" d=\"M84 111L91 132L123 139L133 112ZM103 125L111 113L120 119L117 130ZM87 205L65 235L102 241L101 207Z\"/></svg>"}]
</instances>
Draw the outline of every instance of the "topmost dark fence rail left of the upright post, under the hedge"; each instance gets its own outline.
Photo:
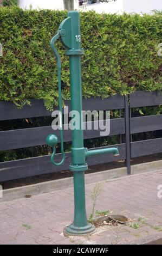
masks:
<instances>
[{"instance_id":1,"label":"topmost dark fence rail left of the upright post, under the hedge","mask_svg":"<svg viewBox=\"0 0 162 256\"><path fill-rule=\"evenodd\" d=\"M70 102L64 102L69 107ZM102 100L100 97L92 97L83 99L83 110L109 110L109 109L122 109L124 108L124 96L114 95ZM14 103L8 101L0 101L0 109L3 109L0 113L0 120L11 120L29 117L45 117L51 115L51 111L48 111L44 107L43 100L31 100L31 105L25 105L23 108L18 109ZM55 110L59 109L57 106Z\"/></svg>"}]
</instances>

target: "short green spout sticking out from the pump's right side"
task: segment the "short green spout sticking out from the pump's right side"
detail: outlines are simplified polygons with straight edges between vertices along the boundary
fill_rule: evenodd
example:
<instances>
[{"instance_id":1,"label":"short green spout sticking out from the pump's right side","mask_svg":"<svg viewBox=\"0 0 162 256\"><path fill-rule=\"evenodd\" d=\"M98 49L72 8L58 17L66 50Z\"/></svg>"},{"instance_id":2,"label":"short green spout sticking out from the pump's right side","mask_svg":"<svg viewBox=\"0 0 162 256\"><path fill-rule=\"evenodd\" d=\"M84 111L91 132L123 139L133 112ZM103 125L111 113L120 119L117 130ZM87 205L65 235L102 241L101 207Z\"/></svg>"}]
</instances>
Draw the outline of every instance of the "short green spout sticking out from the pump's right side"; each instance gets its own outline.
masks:
<instances>
[{"instance_id":1,"label":"short green spout sticking out from the pump's right side","mask_svg":"<svg viewBox=\"0 0 162 256\"><path fill-rule=\"evenodd\" d=\"M88 150L85 148L86 151L86 159L89 156L95 156L95 155L102 155L102 154L108 154L113 153L114 156L119 156L119 150L118 148L105 148L105 149L94 149L94 150Z\"/></svg>"}]
</instances>

